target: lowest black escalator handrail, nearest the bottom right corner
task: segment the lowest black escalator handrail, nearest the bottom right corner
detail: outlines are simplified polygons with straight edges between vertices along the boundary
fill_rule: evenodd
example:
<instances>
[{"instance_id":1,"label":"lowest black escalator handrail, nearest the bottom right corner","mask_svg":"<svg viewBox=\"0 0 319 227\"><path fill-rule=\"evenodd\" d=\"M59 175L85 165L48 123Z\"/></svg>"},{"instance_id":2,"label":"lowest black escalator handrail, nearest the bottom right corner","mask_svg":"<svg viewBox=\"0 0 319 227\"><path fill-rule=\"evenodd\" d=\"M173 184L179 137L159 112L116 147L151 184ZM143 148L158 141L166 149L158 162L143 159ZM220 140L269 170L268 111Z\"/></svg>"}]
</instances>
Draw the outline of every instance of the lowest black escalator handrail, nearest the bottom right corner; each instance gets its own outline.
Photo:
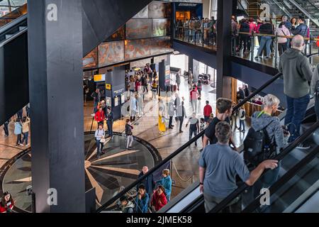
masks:
<instances>
[{"instance_id":1,"label":"lowest black escalator handrail, nearest the bottom right corner","mask_svg":"<svg viewBox=\"0 0 319 227\"><path fill-rule=\"evenodd\" d=\"M282 176L278 181L276 181L271 187L269 187L269 191L272 192L272 194L275 194L281 187L289 182L291 178L296 176L296 174L306 165L309 164L318 154L319 152L319 146L315 148L311 153L309 153L306 157L303 158L300 162L298 162L295 166L291 168L284 176ZM260 206L259 198L262 195L257 196L254 201L252 201L246 208L242 211L242 213L249 213L252 211L255 211L258 206Z\"/></svg>"}]
</instances>

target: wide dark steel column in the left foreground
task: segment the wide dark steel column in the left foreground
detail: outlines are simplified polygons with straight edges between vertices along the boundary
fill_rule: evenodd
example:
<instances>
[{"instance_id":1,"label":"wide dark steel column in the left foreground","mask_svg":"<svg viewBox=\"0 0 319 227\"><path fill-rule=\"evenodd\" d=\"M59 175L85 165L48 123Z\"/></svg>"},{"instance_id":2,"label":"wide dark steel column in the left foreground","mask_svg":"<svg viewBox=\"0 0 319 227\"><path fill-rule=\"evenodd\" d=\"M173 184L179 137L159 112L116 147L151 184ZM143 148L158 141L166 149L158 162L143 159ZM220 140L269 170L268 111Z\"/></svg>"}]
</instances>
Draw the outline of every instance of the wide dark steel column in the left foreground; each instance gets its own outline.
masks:
<instances>
[{"instance_id":1,"label":"wide dark steel column in the left foreground","mask_svg":"<svg viewBox=\"0 0 319 227\"><path fill-rule=\"evenodd\" d=\"M37 212L85 212L82 47L81 0L28 1Z\"/></svg>"}]
</instances>

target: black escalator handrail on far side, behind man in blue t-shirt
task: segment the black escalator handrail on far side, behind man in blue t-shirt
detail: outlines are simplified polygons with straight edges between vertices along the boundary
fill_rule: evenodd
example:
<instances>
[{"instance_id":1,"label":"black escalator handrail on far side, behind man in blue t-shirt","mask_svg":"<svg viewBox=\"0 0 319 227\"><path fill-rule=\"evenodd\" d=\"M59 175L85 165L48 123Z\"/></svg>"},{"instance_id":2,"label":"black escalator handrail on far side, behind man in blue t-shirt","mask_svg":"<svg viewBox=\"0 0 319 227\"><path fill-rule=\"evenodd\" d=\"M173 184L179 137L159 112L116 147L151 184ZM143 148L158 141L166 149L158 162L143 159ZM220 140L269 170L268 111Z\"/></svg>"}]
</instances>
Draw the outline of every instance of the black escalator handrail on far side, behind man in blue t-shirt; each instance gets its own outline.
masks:
<instances>
[{"instance_id":1,"label":"black escalator handrail on far side, behind man in blue t-shirt","mask_svg":"<svg viewBox=\"0 0 319 227\"><path fill-rule=\"evenodd\" d=\"M233 111L237 111L237 109L240 109L241 106L243 106L247 101L250 101L250 99L252 99L254 96L256 96L257 94L259 94L259 92L261 92L264 88L268 87L270 84L272 84L274 81L276 81L276 79L279 79L279 77L281 76L280 73L276 74L274 77L272 77L272 79L269 79L269 81L267 81L265 84L262 85L262 87L259 87L259 89L255 90L254 92L252 92L252 94L250 94L250 96L247 96L245 99L243 99L242 101L240 101L239 104L237 104L234 108ZM113 196L112 199L108 200L106 202L106 204L103 204L101 207L99 207L99 209L96 210L96 212L101 212L104 209L106 209L108 206L110 206L111 204L113 204L113 202L115 202L117 199L120 199L121 196L125 195L130 189L132 189L133 187L136 187L138 184L140 184L140 182L142 182L142 180L144 180L145 178L147 178L148 176L152 175L155 171L157 171L160 167L162 167L164 164L166 164L167 162L169 162L170 160L172 160L172 158L176 157L177 155L179 155L179 153L181 153L183 150L185 150L186 148L189 147L189 145L191 145L192 143L194 143L196 140L200 139L203 135L204 135L205 131L202 131L201 133L199 133L196 137L192 138L191 140L189 140L189 142L185 143L184 145L182 145L180 148L178 148L176 151L174 151L174 153L172 153L171 155L169 155L168 157L166 157L164 160L162 160L162 162L159 162L158 165L156 165L154 168L152 168L149 172L147 172L146 175L143 175L142 177L140 177L139 179L137 179L135 182L133 182L132 184L130 184L128 187L125 187L125 189L123 189L122 192L118 193L116 196Z\"/></svg>"}]
</instances>

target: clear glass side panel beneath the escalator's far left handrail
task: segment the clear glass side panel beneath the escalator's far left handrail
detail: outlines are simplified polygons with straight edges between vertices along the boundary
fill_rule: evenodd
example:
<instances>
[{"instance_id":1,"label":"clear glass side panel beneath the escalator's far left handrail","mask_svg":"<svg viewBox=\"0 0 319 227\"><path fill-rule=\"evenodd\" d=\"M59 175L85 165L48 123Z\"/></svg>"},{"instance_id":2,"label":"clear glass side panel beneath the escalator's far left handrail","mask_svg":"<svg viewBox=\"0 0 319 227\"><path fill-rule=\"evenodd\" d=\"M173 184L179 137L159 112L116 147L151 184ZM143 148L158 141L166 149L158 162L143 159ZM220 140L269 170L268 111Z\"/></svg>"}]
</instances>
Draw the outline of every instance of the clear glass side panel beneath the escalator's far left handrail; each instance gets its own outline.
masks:
<instances>
[{"instance_id":1,"label":"clear glass side panel beneath the escalator's far left handrail","mask_svg":"<svg viewBox=\"0 0 319 227\"><path fill-rule=\"evenodd\" d=\"M280 74L277 74L272 79L270 79L267 83L265 83L262 87L255 90L248 96L243 99L237 106L234 107L234 111L238 110L240 106L243 106L250 101L254 96L260 94L265 88L267 88L270 84L279 79ZM185 189L190 187L194 182L198 182L198 159L201 155L199 149L202 148L201 145L201 137L202 133L199 133L196 138L192 138L185 145L181 146L181 148L177 149L174 153L169 155L165 160L163 160L159 165L154 167L152 170L147 172L147 174L138 181L133 182L128 187L125 187L123 191L118 192L113 196L112 199L109 199L104 203L97 212L107 212L107 211L121 211L123 206L119 206L121 204L121 197L126 196L130 199L130 201L135 201L137 196L138 185L141 182L145 183L145 179L153 178L155 181L161 179L162 170L169 169L170 175L172 177L172 190L169 189L170 198L169 200L174 199L181 192L184 192ZM198 147L195 145L195 141L198 143ZM147 185L150 182L147 183ZM146 184L146 183L145 183ZM157 185L153 185L152 189L157 188ZM192 185L194 186L194 185ZM152 189L148 189L148 194L150 194L149 199L152 196ZM123 198L122 198L123 199ZM158 199L157 199L158 200ZM166 203L166 202L164 202ZM162 207L163 204L161 204ZM159 206L157 206L157 211Z\"/></svg>"}]
</instances>

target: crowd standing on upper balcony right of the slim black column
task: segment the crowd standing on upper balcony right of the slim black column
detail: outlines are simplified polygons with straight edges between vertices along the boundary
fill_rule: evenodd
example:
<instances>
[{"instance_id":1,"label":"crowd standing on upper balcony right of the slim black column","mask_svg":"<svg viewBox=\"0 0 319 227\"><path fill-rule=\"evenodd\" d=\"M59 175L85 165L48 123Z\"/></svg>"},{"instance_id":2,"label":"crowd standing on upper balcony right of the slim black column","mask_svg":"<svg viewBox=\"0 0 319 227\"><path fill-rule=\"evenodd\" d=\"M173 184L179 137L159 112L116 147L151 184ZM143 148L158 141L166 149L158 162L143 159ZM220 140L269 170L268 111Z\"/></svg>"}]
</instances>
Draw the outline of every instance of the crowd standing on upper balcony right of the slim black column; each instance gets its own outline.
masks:
<instances>
[{"instance_id":1,"label":"crowd standing on upper balcony right of the slim black column","mask_svg":"<svg viewBox=\"0 0 319 227\"><path fill-rule=\"evenodd\" d=\"M235 46L237 55L240 54L240 51L244 54L251 51L252 42L255 42L254 35L257 35L259 43L255 59L258 60L264 55L264 58L268 60L275 51L278 50L281 56L288 48L291 48L291 35L302 35L305 38L305 44L308 43L310 29L303 16L291 18L290 21L287 16L282 16L278 26L272 22L271 18L265 18L264 21L260 18L257 18L256 21L254 18L242 18L236 21L235 16L232 17L232 46ZM275 35L278 36L277 50L274 45Z\"/></svg>"}]
</instances>

